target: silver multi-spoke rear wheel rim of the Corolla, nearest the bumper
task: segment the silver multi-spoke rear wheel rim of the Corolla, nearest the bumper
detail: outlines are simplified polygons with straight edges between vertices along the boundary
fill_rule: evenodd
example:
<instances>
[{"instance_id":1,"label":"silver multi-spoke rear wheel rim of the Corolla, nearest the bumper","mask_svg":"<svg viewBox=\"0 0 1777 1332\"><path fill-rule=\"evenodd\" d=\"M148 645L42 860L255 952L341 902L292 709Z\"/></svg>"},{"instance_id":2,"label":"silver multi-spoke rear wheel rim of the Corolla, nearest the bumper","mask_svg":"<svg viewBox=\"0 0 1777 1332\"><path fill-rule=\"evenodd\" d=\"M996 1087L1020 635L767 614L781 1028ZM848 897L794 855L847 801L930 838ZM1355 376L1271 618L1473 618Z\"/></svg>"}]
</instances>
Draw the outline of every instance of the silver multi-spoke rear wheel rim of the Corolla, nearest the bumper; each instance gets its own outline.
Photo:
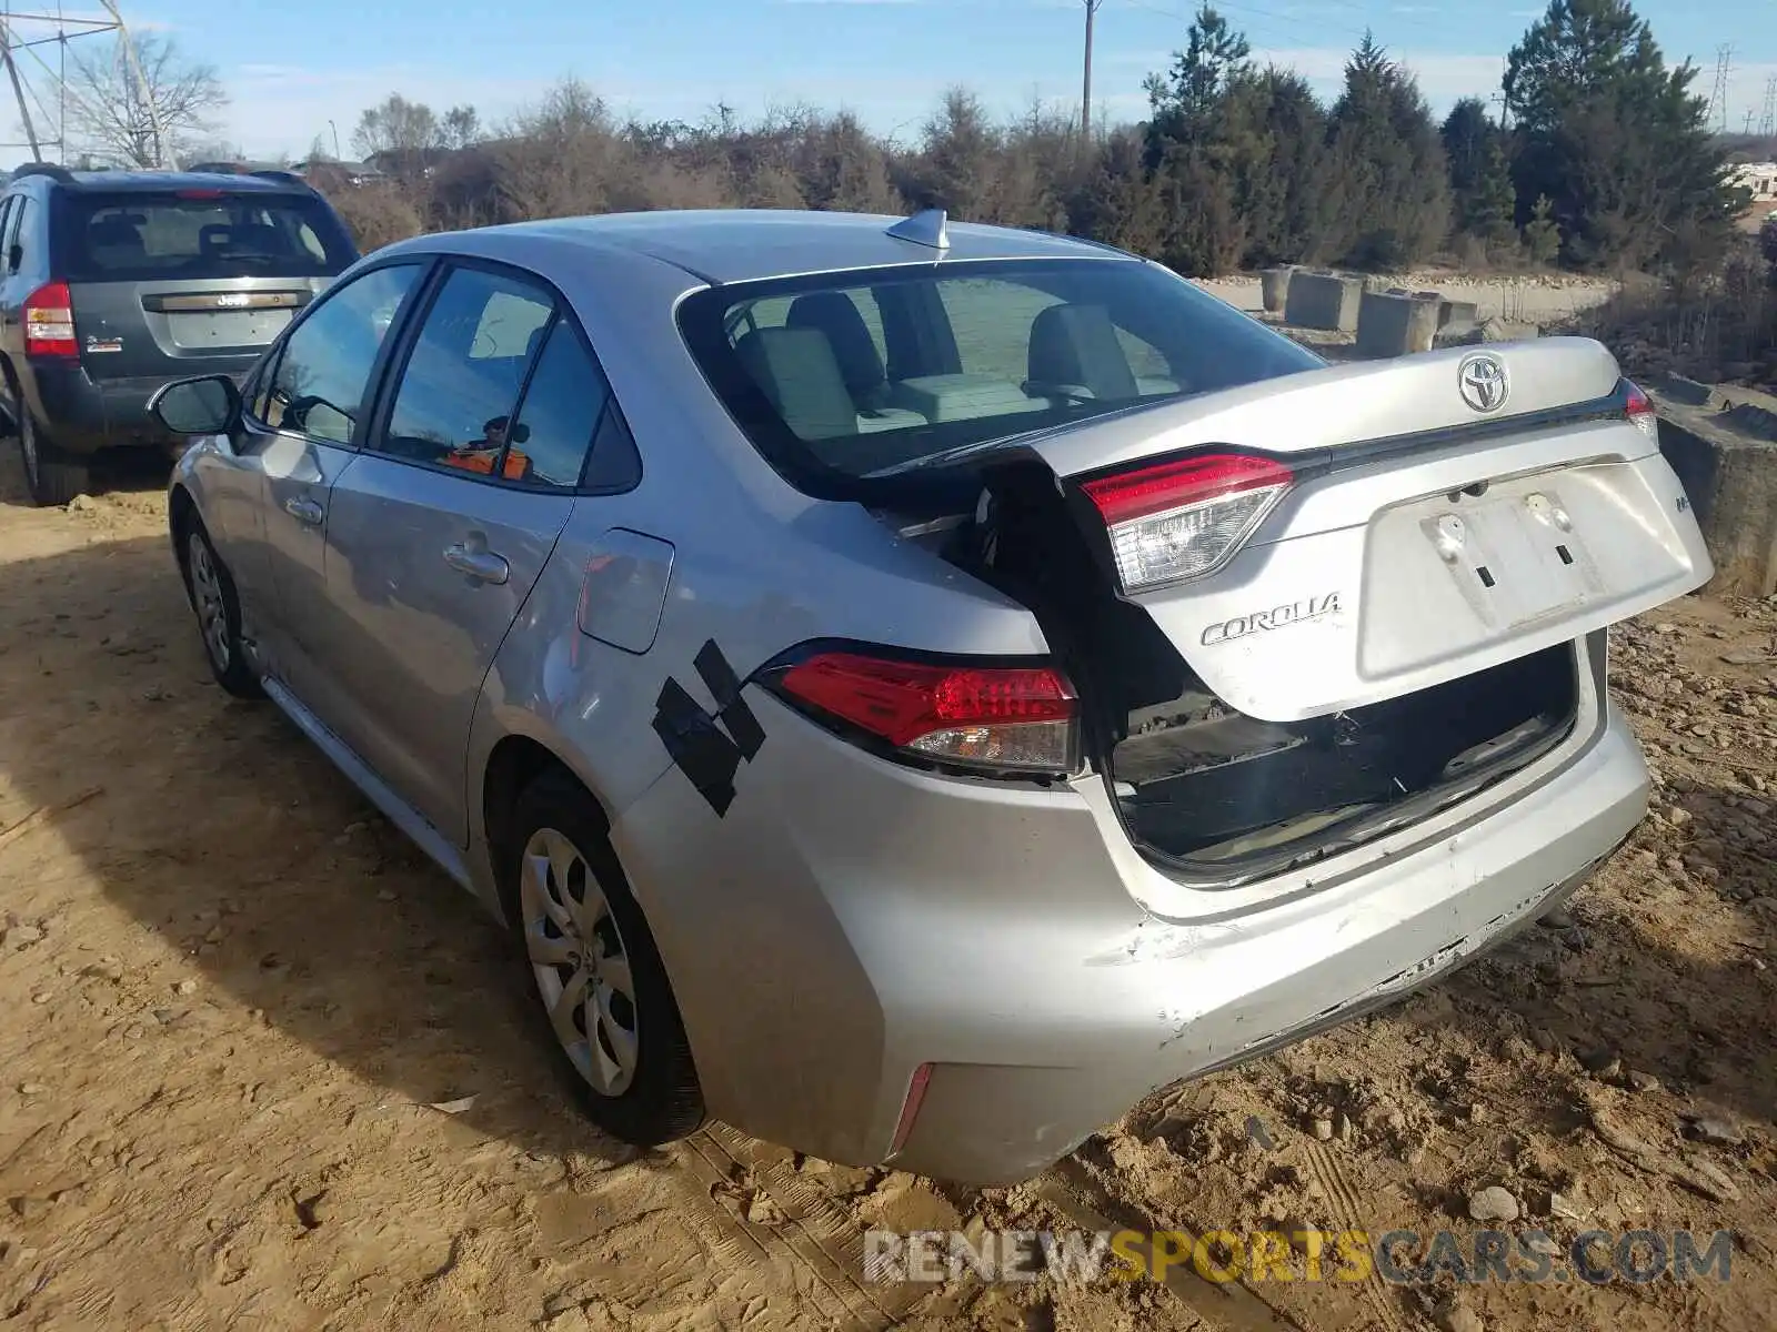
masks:
<instances>
[{"instance_id":1,"label":"silver multi-spoke rear wheel rim of the Corolla, nearest the bumper","mask_svg":"<svg viewBox=\"0 0 1777 1332\"><path fill-rule=\"evenodd\" d=\"M554 828L524 845L524 948L549 1025L601 1096L622 1096L641 1053L636 986L624 936L586 856Z\"/></svg>"}]
</instances>

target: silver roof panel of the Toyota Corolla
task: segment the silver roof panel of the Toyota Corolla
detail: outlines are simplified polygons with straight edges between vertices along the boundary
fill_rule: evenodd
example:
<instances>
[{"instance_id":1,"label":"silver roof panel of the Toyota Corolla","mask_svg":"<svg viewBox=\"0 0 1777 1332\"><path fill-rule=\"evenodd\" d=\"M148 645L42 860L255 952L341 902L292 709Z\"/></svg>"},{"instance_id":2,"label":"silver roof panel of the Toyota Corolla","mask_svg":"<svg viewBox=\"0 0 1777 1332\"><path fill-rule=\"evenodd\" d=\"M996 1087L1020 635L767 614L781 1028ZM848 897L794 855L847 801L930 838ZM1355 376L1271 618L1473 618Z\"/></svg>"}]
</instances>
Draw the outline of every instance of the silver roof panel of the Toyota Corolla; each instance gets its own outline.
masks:
<instances>
[{"instance_id":1,"label":"silver roof panel of the Toyota Corolla","mask_svg":"<svg viewBox=\"0 0 1777 1332\"><path fill-rule=\"evenodd\" d=\"M951 222L949 249L936 250L888 234L903 218L878 213L709 208L654 213L602 213L487 227L480 234L579 242L631 250L682 268L705 282L844 272L894 265L929 265L940 256L967 259L1125 259L1132 254L1045 231Z\"/></svg>"}]
</instances>

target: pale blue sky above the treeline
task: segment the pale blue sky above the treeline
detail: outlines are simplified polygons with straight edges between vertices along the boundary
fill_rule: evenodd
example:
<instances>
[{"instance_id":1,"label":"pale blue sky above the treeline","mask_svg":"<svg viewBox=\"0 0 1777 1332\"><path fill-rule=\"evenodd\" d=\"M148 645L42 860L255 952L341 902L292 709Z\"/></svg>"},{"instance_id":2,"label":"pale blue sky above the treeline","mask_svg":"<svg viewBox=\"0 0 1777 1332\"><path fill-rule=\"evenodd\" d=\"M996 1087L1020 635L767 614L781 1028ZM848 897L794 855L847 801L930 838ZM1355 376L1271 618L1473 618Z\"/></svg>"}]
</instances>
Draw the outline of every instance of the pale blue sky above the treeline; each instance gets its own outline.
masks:
<instances>
[{"instance_id":1,"label":"pale blue sky above the treeline","mask_svg":"<svg viewBox=\"0 0 1777 1332\"><path fill-rule=\"evenodd\" d=\"M57 12L48 0L5 11ZM1183 46L1191 0L1104 0L1095 37L1095 115L1132 121L1143 80ZM1294 66L1333 94L1351 48L1374 30L1420 78L1438 112L1498 92L1505 52L1541 14L1535 0L1258 0L1219 5L1260 60ZM1669 60L1715 83L1733 43L1729 126L1763 115L1777 76L1777 0L1644 0ZM96 7L66 4L66 16ZM251 0L224 18L215 0L123 0L139 32L215 66L229 92L217 139L249 156L306 156L316 137L355 156L359 112L389 92L442 112L471 103L483 124L535 103L576 75L618 115L704 119L727 103L743 117L773 105L849 108L873 130L915 140L945 87L970 87L1015 115L1032 99L1079 107L1084 0ZM14 20L20 37L53 28ZM68 28L75 30L73 27ZM80 48L82 43L73 43ZM55 46L34 48L50 62ZM53 82L23 60L32 89Z\"/></svg>"}]
</instances>

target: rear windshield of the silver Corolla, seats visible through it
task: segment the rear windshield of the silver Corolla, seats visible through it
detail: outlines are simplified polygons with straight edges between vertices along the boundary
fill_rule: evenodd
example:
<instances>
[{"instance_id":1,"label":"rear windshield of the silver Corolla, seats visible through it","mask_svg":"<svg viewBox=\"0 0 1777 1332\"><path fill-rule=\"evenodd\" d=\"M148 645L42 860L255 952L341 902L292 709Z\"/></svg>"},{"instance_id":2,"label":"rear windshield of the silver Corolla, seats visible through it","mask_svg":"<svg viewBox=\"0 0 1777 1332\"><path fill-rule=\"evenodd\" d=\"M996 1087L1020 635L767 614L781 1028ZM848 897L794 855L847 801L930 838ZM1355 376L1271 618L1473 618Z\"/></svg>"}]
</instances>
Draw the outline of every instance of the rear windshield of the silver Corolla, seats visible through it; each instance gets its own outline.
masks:
<instances>
[{"instance_id":1,"label":"rear windshield of the silver Corolla, seats visible through it","mask_svg":"<svg viewBox=\"0 0 1777 1332\"><path fill-rule=\"evenodd\" d=\"M823 492L968 444L1324 362L1132 259L940 263L716 286L681 330L752 442Z\"/></svg>"}]
</instances>

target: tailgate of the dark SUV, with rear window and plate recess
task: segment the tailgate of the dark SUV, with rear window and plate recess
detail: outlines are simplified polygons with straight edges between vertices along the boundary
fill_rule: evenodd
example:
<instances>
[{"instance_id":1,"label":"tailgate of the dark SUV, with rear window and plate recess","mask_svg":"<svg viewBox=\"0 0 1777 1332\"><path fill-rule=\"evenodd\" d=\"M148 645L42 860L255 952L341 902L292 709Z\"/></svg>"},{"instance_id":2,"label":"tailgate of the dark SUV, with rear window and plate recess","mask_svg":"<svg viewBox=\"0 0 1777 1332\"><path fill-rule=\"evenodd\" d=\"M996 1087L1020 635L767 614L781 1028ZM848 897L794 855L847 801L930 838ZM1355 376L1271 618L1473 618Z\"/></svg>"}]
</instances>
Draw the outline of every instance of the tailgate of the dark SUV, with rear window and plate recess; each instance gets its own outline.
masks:
<instances>
[{"instance_id":1,"label":"tailgate of the dark SUV, with rear window and plate recess","mask_svg":"<svg viewBox=\"0 0 1777 1332\"><path fill-rule=\"evenodd\" d=\"M243 375L355 258L300 190L57 195L57 274L94 380Z\"/></svg>"}]
</instances>

